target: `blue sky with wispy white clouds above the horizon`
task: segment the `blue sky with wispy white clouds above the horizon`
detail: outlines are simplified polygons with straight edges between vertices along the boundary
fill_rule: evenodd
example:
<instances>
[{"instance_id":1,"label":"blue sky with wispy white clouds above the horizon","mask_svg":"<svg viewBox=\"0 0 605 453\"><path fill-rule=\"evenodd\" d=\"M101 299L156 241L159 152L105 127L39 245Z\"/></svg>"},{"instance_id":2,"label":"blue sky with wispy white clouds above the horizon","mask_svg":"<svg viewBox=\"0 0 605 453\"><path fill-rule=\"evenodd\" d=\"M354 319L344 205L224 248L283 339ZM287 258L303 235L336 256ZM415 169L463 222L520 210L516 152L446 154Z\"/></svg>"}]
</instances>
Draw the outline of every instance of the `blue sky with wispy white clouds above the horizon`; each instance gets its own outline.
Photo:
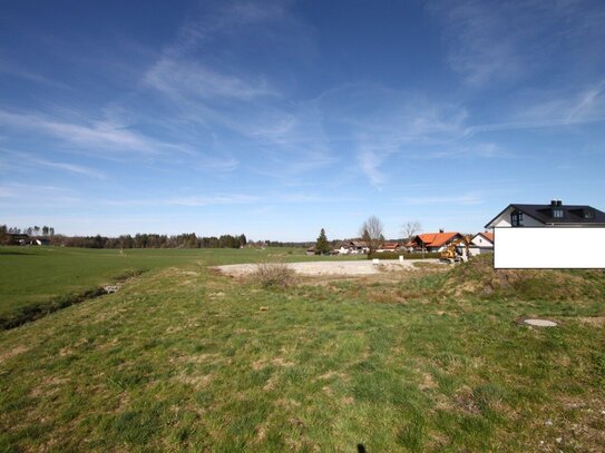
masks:
<instances>
[{"instance_id":1,"label":"blue sky with wispy white clouds above the horizon","mask_svg":"<svg viewBox=\"0 0 605 453\"><path fill-rule=\"evenodd\" d=\"M12 1L0 223L64 234L478 232L605 209L602 1Z\"/></svg>"}]
</instances>

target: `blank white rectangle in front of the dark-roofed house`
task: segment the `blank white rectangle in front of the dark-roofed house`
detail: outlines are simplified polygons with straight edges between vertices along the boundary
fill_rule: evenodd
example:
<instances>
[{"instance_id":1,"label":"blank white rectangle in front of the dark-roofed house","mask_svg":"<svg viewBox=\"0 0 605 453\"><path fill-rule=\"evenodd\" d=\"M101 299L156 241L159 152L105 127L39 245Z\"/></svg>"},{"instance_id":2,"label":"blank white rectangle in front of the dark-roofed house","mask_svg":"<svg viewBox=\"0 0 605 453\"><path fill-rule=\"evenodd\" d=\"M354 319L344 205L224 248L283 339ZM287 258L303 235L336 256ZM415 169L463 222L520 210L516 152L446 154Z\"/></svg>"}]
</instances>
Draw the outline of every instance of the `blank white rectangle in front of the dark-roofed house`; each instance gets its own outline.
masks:
<instances>
[{"instance_id":1,"label":"blank white rectangle in front of the dark-roofed house","mask_svg":"<svg viewBox=\"0 0 605 453\"><path fill-rule=\"evenodd\" d=\"M495 268L605 268L605 228L494 228Z\"/></svg>"}]
</instances>

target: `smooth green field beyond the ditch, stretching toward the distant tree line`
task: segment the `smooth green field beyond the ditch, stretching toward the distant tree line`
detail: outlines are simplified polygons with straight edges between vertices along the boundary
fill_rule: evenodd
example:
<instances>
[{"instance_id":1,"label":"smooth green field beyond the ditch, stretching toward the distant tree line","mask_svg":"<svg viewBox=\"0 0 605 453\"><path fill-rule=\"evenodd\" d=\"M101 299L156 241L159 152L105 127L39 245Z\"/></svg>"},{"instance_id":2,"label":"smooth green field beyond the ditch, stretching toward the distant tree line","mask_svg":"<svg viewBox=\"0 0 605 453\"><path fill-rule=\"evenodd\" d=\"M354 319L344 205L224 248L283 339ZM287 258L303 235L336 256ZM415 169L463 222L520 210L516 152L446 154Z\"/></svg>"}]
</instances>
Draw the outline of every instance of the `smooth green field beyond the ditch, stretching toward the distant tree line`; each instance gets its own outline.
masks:
<instances>
[{"instance_id":1,"label":"smooth green field beyond the ditch, stretching toward the distant tree line","mask_svg":"<svg viewBox=\"0 0 605 453\"><path fill-rule=\"evenodd\" d=\"M120 277L186 264L343 259L308 257L300 248L246 249L84 249L67 247L0 247L0 318L11 319L32 307L52 306ZM344 257L344 259L351 257Z\"/></svg>"}]
</instances>

